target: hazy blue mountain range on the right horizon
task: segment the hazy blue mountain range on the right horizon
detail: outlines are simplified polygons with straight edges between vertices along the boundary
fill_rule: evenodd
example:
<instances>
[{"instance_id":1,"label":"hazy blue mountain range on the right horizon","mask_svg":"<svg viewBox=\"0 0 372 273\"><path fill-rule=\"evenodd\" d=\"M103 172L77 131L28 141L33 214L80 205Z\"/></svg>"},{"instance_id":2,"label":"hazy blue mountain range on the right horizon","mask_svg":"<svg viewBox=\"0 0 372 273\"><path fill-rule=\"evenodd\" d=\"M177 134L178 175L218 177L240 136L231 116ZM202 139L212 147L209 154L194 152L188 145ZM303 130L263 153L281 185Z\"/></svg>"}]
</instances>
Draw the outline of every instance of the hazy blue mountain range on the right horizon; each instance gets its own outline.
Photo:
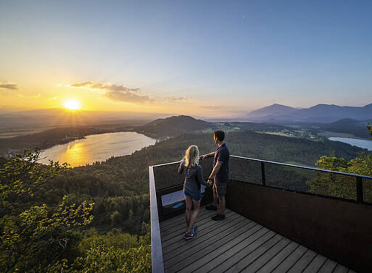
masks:
<instances>
[{"instance_id":1,"label":"hazy blue mountain range on the right horizon","mask_svg":"<svg viewBox=\"0 0 372 273\"><path fill-rule=\"evenodd\" d=\"M310 108L302 109L273 104L249 112L248 119L255 122L273 123L332 123L342 119L371 120L372 103L363 107L317 104Z\"/></svg>"}]
</instances>

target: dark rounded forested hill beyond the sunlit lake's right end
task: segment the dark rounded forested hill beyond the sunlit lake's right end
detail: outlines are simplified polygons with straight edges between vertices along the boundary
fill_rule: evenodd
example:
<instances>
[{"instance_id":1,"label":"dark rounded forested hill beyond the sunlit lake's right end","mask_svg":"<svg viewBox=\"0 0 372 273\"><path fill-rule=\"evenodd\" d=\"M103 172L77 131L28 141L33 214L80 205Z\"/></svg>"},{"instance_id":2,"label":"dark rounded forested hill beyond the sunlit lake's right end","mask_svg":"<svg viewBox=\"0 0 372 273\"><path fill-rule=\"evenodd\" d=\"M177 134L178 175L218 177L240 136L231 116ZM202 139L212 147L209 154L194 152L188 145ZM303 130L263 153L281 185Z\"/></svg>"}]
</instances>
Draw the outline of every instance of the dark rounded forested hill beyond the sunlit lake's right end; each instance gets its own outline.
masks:
<instances>
[{"instance_id":1,"label":"dark rounded forested hill beyond the sunlit lake's right end","mask_svg":"<svg viewBox=\"0 0 372 273\"><path fill-rule=\"evenodd\" d=\"M154 120L144 126L137 127L135 131L150 137L164 137L194 133L195 131L211 127L213 127L211 123L189 116L173 116Z\"/></svg>"}]
</instances>

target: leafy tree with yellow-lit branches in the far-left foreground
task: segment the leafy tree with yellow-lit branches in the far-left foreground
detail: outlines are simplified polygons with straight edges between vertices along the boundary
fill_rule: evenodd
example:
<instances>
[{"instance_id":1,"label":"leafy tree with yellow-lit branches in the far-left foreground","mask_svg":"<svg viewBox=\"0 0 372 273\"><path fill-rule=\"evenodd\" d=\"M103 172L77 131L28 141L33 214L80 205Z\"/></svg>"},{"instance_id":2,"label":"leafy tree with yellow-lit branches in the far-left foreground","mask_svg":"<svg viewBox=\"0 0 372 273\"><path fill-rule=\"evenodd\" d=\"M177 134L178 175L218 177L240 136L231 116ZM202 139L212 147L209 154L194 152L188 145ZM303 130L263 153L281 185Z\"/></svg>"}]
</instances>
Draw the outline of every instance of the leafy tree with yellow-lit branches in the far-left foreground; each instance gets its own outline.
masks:
<instances>
[{"instance_id":1,"label":"leafy tree with yellow-lit branches in the far-left foreground","mask_svg":"<svg viewBox=\"0 0 372 273\"><path fill-rule=\"evenodd\" d=\"M38 163L40 150L24 150L0 168L0 270L47 272L69 248L79 228L89 224L94 203L69 204L66 197L56 208L33 205L32 197L66 170L51 161Z\"/></svg>"}]
</instances>

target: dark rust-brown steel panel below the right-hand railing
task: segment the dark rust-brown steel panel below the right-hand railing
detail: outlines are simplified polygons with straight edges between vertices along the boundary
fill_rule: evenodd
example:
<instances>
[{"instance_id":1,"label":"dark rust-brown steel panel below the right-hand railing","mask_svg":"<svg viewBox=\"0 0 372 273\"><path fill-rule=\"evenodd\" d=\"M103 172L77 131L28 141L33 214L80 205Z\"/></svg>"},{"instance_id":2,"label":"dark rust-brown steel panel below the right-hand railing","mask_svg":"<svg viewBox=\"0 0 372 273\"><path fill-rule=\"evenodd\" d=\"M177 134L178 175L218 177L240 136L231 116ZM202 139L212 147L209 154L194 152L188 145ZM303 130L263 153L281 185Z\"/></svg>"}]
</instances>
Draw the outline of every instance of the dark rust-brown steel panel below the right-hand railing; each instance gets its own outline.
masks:
<instances>
[{"instance_id":1,"label":"dark rust-brown steel panel below the right-hand railing","mask_svg":"<svg viewBox=\"0 0 372 273\"><path fill-rule=\"evenodd\" d=\"M372 206L230 181L227 207L361 273L372 272Z\"/></svg>"}]
</instances>

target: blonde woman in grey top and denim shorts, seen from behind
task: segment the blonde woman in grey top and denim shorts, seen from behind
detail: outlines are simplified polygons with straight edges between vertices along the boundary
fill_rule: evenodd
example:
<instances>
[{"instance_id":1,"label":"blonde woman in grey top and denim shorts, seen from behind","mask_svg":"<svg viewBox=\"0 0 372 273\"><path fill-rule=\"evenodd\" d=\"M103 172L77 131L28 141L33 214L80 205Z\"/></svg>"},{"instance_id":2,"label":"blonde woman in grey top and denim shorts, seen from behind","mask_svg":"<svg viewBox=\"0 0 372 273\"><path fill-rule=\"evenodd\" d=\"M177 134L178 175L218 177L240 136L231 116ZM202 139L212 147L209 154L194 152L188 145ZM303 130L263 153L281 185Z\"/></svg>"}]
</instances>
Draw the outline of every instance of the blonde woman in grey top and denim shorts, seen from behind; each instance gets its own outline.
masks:
<instances>
[{"instance_id":1,"label":"blonde woman in grey top and denim shorts, seen from behind","mask_svg":"<svg viewBox=\"0 0 372 273\"><path fill-rule=\"evenodd\" d=\"M200 209L201 191L200 185L210 186L203 179L203 171L199 163L199 149L195 145L188 147L185 157L181 160L178 169L179 174L185 172L184 194L186 200L186 234L185 239L192 239L196 236L196 228L194 225L197 214ZM191 211L192 204L194 210Z\"/></svg>"}]
</instances>

